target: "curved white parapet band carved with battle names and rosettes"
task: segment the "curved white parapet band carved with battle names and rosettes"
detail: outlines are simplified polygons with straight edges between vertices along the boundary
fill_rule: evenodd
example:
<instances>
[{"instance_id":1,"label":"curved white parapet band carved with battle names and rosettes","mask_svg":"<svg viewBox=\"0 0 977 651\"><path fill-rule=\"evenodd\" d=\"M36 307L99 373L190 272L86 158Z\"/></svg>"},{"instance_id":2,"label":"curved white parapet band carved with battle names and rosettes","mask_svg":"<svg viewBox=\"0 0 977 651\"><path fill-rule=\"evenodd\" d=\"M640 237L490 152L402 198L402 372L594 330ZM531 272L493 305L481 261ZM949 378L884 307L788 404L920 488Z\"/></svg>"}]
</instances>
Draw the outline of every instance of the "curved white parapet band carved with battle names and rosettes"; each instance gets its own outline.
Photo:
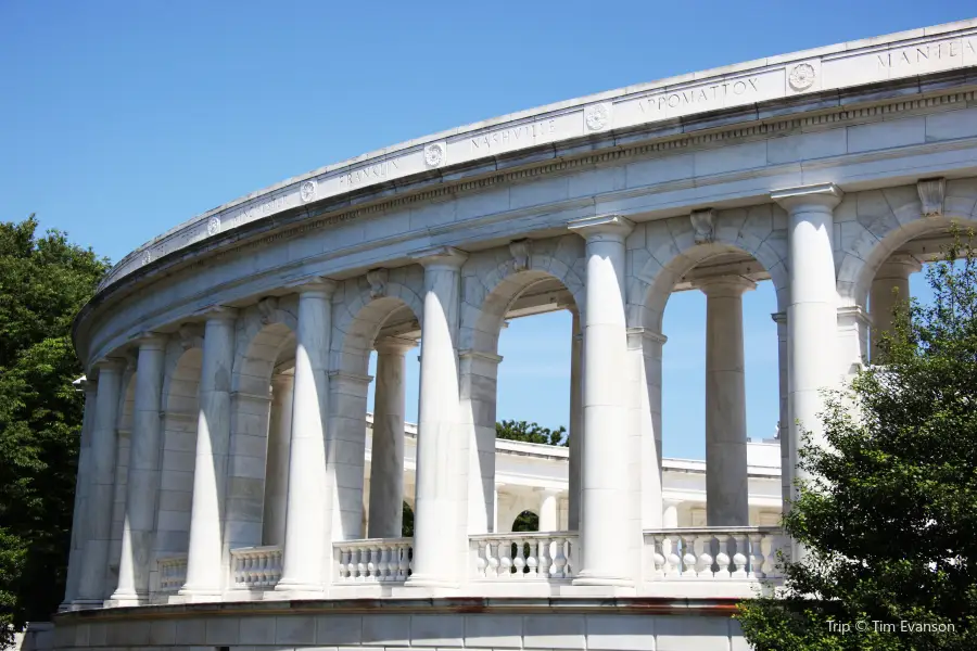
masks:
<instances>
[{"instance_id":1,"label":"curved white parapet band carved with battle names and rosettes","mask_svg":"<svg viewBox=\"0 0 977 651\"><path fill-rule=\"evenodd\" d=\"M167 230L123 257L99 290L221 232L370 186L426 174L440 177L446 169L479 159L686 115L914 76L919 67L900 67L898 58L903 54L900 49L921 46L927 47L927 64L930 55L939 60L926 72L977 65L977 18L627 86L375 150L284 179Z\"/></svg>"}]
</instances>

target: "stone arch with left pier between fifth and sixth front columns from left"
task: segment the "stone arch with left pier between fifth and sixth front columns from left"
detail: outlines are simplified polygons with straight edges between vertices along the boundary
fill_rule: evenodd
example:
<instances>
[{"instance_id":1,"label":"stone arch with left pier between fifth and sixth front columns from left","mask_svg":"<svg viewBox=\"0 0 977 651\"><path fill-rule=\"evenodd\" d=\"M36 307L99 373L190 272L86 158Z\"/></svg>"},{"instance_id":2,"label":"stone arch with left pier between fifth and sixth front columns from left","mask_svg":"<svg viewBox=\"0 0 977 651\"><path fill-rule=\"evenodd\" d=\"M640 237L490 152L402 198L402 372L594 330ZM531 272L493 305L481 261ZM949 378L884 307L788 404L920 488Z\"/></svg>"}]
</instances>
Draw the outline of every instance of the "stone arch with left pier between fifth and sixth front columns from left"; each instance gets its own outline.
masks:
<instances>
[{"instance_id":1,"label":"stone arch with left pier between fifth and sixth front columns from left","mask_svg":"<svg viewBox=\"0 0 977 651\"><path fill-rule=\"evenodd\" d=\"M338 511L334 539L359 538L365 523L367 372L373 343L395 312L421 322L422 292L423 269L411 266L375 276L372 283L367 277L350 279L333 298L329 455L335 482L331 508Z\"/></svg>"}]
</instances>

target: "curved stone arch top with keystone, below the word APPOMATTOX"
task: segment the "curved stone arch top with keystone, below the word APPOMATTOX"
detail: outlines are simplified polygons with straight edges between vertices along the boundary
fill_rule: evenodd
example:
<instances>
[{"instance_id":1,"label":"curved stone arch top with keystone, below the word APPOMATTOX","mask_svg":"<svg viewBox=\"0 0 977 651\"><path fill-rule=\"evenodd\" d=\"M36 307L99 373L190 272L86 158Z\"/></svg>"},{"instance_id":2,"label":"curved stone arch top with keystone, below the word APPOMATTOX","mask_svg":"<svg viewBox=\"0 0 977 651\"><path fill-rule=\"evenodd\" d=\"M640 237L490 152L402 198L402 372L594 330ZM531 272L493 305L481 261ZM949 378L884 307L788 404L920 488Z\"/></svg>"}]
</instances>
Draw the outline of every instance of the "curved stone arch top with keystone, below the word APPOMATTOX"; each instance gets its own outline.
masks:
<instances>
[{"instance_id":1,"label":"curved stone arch top with keystone, below the word APPOMATTOX","mask_svg":"<svg viewBox=\"0 0 977 651\"><path fill-rule=\"evenodd\" d=\"M665 304L678 280L697 265L724 253L746 253L771 277L777 311L787 308L787 214L774 204L716 210L711 241L696 242L688 216L651 221L629 238L645 245L629 252L627 326L661 332Z\"/></svg>"}]
</instances>

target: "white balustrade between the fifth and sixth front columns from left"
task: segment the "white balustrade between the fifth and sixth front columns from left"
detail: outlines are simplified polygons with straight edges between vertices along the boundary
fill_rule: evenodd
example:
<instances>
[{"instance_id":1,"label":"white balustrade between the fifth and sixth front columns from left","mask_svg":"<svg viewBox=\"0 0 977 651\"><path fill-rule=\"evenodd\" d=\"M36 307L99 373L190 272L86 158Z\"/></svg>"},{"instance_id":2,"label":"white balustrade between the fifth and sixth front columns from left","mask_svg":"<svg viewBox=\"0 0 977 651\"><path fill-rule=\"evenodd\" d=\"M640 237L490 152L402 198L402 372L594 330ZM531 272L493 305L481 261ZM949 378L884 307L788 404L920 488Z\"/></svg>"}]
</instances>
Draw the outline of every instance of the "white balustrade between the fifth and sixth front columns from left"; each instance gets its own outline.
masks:
<instances>
[{"instance_id":1,"label":"white balustrade between the fifth and sixth front columns from left","mask_svg":"<svg viewBox=\"0 0 977 651\"><path fill-rule=\"evenodd\" d=\"M404 582L414 569L414 538L332 544L339 583Z\"/></svg>"}]
</instances>

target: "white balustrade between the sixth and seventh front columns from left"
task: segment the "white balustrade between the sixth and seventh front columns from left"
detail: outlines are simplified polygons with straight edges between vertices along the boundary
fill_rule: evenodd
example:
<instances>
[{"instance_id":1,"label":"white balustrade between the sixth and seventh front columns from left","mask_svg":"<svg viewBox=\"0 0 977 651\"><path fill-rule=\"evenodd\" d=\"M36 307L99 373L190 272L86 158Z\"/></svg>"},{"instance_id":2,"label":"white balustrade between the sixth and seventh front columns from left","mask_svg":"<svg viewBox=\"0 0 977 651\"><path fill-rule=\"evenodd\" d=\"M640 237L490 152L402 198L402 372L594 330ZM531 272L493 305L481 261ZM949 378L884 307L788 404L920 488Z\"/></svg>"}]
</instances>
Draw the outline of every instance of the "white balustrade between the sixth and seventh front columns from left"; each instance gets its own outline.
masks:
<instances>
[{"instance_id":1,"label":"white balustrade between the sixth and seventh front columns from left","mask_svg":"<svg viewBox=\"0 0 977 651\"><path fill-rule=\"evenodd\" d=\"M477 579L551 580L575 573L576 532L484 534L470 537Z\"/></svg>"}]
</instances>

